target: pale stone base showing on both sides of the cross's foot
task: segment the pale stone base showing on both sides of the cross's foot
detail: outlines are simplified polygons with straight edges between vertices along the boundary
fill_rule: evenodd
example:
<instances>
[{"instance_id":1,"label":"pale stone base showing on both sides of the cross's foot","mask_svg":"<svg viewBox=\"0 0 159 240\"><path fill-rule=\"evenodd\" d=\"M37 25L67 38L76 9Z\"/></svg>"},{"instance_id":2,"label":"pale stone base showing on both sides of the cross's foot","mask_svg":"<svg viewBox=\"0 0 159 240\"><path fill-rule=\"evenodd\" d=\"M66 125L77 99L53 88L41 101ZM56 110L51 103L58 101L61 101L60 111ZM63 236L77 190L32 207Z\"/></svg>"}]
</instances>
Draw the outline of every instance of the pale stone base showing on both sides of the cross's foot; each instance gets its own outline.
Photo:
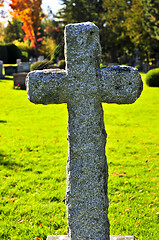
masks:
<instances>
[{"instance_id":1,"label":"pale stone base showing on both sides of the cross's foot","mask_svg":"<svg viewBox=\"0 0 159 240\"><path fill-rule=\"evenodd\" d=\"M69 240L67 235L49 235L46 240ZM134 236L110 236L110 240L134 240Z\"/></svg>"}]
</instances>

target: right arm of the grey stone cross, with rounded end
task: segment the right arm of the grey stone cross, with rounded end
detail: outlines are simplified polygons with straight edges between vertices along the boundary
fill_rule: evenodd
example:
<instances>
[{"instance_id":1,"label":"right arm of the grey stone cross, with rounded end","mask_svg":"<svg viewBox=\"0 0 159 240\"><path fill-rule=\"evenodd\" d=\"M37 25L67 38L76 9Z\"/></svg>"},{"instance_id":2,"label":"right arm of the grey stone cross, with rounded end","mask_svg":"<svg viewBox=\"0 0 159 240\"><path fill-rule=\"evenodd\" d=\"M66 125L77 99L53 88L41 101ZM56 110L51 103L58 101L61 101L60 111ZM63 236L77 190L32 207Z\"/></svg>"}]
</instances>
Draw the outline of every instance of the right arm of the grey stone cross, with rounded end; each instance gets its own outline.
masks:
<instances>
[{"instance_id":1,"label":"right arm of the grey stone cross, with rounded end","mask_svg":"<svg viewBox=\"0 0 159 240\"><path fill-rule=\"evenodd\" d=\"M143 83L133 67L114 66L100 70L101 101L129 104L140 96Z\"/></svg>"}]
</instances>

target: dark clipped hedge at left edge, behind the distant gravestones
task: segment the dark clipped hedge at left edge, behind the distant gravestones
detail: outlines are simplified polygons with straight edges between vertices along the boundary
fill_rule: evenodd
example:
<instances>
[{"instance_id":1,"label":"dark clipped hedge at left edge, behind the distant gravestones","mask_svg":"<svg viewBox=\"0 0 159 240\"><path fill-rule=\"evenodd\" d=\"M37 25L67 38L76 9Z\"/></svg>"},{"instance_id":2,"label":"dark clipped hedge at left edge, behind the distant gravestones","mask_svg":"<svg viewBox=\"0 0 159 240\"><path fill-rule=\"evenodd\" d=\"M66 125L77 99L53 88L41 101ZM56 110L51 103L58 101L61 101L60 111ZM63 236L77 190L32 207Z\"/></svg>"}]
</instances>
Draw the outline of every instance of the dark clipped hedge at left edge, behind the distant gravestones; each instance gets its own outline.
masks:
<instances>
[{"instance_id":1,"label":"dark clipped hedge at left edge, behind the distant gravestones","mask_svg":"<svg viewBox=\"0 0 159 240\"><path fill-rule=\"evenodd\" d=\"M0 44L0 60L5 64L15 64L17 59L22 59L20 49L13 43Z\"/></svg>"}]
</instances>

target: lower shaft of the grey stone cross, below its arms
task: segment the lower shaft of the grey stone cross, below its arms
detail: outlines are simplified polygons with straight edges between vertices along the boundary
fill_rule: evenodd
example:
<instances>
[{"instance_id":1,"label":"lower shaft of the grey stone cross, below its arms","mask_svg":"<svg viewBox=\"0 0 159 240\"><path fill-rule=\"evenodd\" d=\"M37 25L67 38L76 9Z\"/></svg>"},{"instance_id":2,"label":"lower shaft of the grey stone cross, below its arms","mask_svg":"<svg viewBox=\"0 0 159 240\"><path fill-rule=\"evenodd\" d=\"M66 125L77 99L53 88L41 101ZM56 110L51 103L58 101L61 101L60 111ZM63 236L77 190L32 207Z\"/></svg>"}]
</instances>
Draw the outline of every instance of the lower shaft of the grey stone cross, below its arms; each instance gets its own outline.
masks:
<instances>
[{"instance_id":1,"label":"lower shaft of the grey stone cross, below its arms","mask_svg":"<svg viewBox=\"0 0 159 240\"><path fill-rule=\"evenodd\" d=\"M84 105L74 109L68 104L68 234L71 239L88 236L88 239L106 240L109 236L108 171L103 110L94 101Z\"/></svg>"}]
</instances>

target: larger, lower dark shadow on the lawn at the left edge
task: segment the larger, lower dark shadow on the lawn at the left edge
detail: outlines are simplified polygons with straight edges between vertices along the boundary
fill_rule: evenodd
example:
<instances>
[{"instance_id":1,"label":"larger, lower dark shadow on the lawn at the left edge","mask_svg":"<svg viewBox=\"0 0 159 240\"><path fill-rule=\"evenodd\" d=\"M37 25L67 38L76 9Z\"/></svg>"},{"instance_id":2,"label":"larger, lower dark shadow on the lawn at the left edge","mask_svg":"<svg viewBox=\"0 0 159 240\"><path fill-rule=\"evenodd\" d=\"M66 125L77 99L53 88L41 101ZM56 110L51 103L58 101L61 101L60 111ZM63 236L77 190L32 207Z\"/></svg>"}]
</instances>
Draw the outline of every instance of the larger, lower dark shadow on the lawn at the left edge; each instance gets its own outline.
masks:
<instances>
[{"instance_id":1,"label":"larger, lower dark shadow on the lawn at the left edge","mask_svg":"<svg viewBox=\"0 0 159 240\"><path fill-rule=\"evenodd\" d=\"M16 163L11 160L11 155L7 155L4 152L0 153L0 165L7 167L8 169L17 169L17 167L22 167L22 164Z\"/></svg>"}]
</instances>

